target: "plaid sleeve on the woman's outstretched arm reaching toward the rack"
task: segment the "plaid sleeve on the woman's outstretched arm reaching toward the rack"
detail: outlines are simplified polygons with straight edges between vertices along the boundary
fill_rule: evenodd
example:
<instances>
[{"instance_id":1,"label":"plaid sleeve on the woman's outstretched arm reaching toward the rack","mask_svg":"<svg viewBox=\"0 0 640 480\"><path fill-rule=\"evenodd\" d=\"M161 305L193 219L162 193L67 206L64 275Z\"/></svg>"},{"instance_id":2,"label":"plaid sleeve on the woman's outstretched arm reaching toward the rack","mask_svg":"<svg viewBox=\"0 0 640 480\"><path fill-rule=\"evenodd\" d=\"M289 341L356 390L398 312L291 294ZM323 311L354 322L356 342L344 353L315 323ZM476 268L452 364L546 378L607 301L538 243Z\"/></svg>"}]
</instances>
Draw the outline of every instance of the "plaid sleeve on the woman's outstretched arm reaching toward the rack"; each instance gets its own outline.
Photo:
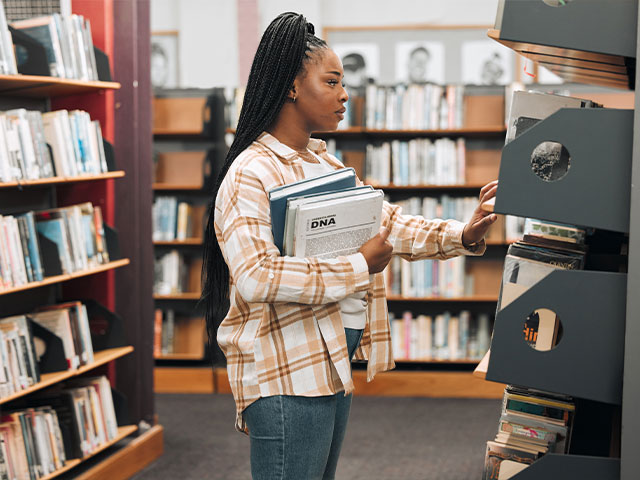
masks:
<instances>
[{"instance_id":1,"label":"plaid sleeve on the woman's outstretched arm reaching toward the rack","mask_svg":"<svg viewBox=\"0 0 640 480\"><path fill-rule=\"evenodd\" d=\"M486 250L484 240L471 248L464 247L462 222L402 215L401 207L387 202L383 207L383 225L389 229L393 253L406 260L446 260L459 255L482 255Z\"/></svg>"}]
</instances>

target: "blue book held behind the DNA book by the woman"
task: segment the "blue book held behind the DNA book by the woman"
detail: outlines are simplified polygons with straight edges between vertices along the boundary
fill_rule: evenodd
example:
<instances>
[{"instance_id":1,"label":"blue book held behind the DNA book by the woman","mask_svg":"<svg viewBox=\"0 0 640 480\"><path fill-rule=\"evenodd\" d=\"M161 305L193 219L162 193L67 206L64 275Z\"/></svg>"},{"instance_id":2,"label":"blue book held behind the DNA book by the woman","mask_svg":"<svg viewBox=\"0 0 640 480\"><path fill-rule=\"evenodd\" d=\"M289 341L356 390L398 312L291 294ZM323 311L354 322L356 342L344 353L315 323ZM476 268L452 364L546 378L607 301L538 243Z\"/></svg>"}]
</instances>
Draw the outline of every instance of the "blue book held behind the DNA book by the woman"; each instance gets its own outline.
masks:
<instances>
[{"instance_id":1,"label":"blue book held behind the DNA book by the woman","mask_svg":"<svg viewBox=\"0 0 640 480\"><path fill-rule=\"evenodd\" d=\"M276 187L269 191L271 205L271 232L273 243L283 254L284 227L287 213L287 200L312 193L343 190L356 186L356 172L353 168L342 168L313 178Z\"/></svg>"}]
</instances>

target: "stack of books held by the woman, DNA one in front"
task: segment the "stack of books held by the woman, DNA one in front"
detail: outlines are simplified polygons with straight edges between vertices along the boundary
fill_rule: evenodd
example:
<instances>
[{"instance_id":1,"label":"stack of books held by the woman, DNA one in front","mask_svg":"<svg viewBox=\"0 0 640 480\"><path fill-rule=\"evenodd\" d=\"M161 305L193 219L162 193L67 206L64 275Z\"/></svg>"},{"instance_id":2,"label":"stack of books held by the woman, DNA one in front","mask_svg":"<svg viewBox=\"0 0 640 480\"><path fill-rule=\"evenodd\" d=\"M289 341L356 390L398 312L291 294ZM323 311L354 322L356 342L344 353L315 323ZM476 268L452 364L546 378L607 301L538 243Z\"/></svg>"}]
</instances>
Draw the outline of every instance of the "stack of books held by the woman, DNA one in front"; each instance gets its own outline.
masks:
<instances>
[{"instance_id":1,"label":"stack of books held by the woman, DNA one in front","mask_svg":"<svg viewBox=\"0 0 640 480\"><path fill-rule=\"evenodd\" d=\"M282 255L335 258L356 253L380 230L384 194L356 187L343 168L269 192L274 243Z\"/></svg>"}]
</instances>

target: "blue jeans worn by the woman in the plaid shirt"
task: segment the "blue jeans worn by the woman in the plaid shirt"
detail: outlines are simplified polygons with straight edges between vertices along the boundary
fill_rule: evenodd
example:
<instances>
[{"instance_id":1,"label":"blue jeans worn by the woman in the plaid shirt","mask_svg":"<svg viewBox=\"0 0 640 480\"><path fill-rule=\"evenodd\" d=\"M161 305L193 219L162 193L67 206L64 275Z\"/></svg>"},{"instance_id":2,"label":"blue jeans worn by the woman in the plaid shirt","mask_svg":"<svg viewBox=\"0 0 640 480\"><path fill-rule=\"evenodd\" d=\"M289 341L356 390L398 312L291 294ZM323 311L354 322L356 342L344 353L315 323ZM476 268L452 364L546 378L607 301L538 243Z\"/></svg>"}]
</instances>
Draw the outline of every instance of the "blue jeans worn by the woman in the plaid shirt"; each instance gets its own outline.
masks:
<instances>
[{"instance_id":1,"label":"blue jeans worn by the woman in the plaid shirt","mask_svg":"<svg viewBox=\"0 0 640 480\"><path fill-rule=\"evenodd\" d=\"M349 358L362 330L345 328ZM244 410L251 440L253 480L320 480L336 474L351 397L275 395Z\"/></svg>"}]
</instances>

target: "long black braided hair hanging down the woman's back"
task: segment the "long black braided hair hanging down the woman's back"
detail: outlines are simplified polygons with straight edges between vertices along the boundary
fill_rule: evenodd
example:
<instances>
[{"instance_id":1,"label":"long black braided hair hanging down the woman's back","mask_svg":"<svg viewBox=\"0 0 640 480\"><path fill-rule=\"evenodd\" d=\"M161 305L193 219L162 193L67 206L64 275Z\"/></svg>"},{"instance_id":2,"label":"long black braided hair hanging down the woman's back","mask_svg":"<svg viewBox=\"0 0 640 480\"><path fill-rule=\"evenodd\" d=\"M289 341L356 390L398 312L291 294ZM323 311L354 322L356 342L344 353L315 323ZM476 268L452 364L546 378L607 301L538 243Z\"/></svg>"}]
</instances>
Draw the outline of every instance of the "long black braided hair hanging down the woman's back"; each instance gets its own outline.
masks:
<instances>
[{"instance_id":1,"label":"long black braided hair hanging down the woman's back","mask_svg":"<svg viewBox=\"0 0 640 480\"><path fill-rule=\"evenodd\" d=\"M324 40L314 33L313 25L303 15L293 12L278 15L262 35L251 65L235 139L218 175L204 235L201 301L206 309L210 347L215 344L217 323L229 309L229 268L214 229L218 190L236 157L278 118L305 62L316 50L327 48Z\"/></svg>"}]
</instances>

